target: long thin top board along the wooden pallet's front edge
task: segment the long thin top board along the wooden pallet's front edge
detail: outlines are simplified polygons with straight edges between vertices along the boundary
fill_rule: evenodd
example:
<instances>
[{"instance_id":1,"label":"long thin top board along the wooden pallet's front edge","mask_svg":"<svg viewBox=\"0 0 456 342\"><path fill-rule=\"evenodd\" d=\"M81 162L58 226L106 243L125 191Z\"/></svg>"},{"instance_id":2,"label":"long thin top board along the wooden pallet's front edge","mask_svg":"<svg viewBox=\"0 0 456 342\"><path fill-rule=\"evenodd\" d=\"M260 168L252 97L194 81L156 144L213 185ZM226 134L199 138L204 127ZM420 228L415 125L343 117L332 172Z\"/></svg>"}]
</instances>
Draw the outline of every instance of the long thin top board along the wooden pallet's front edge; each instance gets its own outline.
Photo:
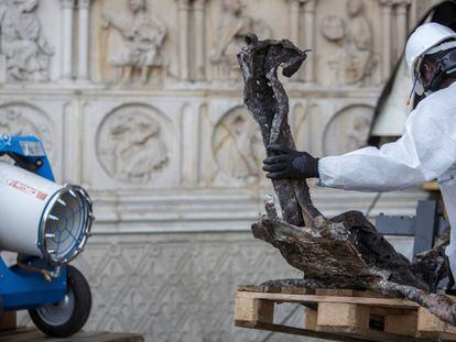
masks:
<instances>
[{"instance_id":1,"label":"long thin top board along the wooden pallet's front edge","mask_svg":"<svg viewBox=\"0 0 456 342\"><path fill-rule=\"evenodd\" d=\"M366 298L366 297L339 297L339 296L316 296L316 295L287 295L287 294L267 294L238 291L238 298L265 299L271 301L285 302L340 302L340 304L361 304L379 308L394 309L417 309L420 306L408 299L400 298Z\"/></svg>"}]
</instances>

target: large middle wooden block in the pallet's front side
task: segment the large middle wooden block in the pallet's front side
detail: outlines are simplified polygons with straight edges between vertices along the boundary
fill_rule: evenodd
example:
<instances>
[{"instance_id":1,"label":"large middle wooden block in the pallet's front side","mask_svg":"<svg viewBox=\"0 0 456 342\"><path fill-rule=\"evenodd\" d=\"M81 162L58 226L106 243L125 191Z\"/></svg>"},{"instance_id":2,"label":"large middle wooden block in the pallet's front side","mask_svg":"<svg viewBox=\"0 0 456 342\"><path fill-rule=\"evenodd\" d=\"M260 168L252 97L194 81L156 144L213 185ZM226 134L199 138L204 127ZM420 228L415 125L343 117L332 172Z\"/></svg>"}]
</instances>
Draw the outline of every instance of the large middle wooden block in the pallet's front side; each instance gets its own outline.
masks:
<instances>
[{"instance_id":1,"label":"large middle wooden block in the pallet's front side","mask_svg":"<svg viewBox=\"0 0 456 342\"><path fill-rule=\"evenodd\" d=\"M321 302L316 330L363 334L369 330L369 307L357 304Z\"/></svg>"}]
</instances>

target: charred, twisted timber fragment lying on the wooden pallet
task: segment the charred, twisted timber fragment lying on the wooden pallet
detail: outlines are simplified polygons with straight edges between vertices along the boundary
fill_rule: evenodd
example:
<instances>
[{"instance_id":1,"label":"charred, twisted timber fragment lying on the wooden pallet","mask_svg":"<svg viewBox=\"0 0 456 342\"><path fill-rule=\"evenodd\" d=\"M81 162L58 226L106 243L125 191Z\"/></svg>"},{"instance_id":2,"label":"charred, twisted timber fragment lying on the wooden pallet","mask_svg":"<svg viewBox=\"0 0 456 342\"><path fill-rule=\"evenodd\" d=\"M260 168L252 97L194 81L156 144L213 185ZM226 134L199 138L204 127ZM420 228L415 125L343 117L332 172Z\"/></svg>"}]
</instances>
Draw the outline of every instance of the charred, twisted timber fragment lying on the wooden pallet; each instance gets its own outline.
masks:
<instances>
[{"instance_id":1,"label":"charred, twisted timber fragment lying on the wooden pallet","mask_svg":"<svg viewBox=\"0 0 456 342\"><path fill-rule=\"evenodd\" d=\"M306 52L287 40L259 41L254 34L248 35L246 42L238 54L245 104L259 124L265 146L282 144L295 148L287 123L289 98L278 73L281 67L283 76L293 76L304 63ZM348 211L327 219L314 207L305 180L272 183L283 218L279 217L273 198L268 197L267 214L252 225L252 233L276 247L290 265L304 273L304 279L271 280L268 286L377 290L406 297L456 326L455 302L431 293L442 275L423 274L423 267L395 252L361 212ZM441 260L435 263L442 264Z\"/></svg>"}]
</instances>

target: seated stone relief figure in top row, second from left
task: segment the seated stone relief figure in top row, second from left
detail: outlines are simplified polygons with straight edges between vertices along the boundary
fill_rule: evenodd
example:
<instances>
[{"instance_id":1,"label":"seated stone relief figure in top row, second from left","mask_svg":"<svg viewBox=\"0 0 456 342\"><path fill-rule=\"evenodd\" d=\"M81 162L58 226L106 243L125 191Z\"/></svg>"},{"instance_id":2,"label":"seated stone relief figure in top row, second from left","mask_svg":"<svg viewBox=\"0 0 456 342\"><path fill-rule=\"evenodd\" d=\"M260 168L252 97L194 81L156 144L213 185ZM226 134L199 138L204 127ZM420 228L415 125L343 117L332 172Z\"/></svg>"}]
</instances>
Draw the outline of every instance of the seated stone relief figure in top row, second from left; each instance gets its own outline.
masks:
<instances>
[{"instance_id":1,"label":"seated stone relief figure in top row, second from left","mask_svg":"<svg viewBox=\"0 0 456 342\"><path fill-rule=\"evenodd\" d=\"M120 52L111 58L113 65L122 68L123 81L130 81L133 70L140 69L145 84L151 69L163 66L161 49L167 29L148 11L145 0L128 0L128 5L132 13L129 20L104 14L104 27L113 27L124 40Z\"/></svg>"}]
</instances>

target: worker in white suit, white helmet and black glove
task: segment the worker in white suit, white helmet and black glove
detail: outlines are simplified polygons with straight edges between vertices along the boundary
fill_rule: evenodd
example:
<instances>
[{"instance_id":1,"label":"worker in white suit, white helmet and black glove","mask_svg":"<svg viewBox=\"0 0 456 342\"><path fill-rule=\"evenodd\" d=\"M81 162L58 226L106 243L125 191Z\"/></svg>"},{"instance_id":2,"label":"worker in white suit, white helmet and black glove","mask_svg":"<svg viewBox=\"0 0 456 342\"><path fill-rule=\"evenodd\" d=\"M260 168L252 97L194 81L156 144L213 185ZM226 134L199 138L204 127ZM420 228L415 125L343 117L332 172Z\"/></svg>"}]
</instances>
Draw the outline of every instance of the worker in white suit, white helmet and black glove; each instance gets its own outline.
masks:
<instances>
[{"instance_id":1,"label":"worker in white suit, white helmet and black glove","mask_svg":"<svg viewBox=\"0 0 456 342\"><path fill-rule=\"evenodd\" d=\"M317 177L321 186L376 192L437 178L453 228L446 254L456 275L456 33L423 24L410 36L405 58L413 73L412 93L424 99L397 142L321 159L271 145L263 170L272 179Z\"/></svg>"}]
</instances>

